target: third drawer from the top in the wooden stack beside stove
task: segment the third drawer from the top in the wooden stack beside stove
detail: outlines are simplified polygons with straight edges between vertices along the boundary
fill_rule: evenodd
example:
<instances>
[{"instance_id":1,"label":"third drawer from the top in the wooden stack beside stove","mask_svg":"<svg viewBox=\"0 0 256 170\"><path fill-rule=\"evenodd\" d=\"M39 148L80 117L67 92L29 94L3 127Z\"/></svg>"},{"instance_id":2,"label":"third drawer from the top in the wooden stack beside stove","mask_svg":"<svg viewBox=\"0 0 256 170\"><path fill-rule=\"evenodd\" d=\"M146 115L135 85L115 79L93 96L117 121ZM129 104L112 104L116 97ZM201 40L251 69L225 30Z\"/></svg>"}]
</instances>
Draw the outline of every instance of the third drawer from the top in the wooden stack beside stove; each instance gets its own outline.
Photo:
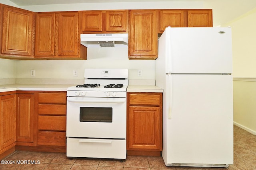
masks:
<instances>
[{"instance_id":1,"label":"third drawer from the top in the wooden stack beside stove","mask_svg":"<svg viewBox=\"0 0 256 170\"><path fill-rule=\"evenodd\" d=\"M38 130L66 131L66 116L38 116Z\"/></svg>"}]
</instances>

